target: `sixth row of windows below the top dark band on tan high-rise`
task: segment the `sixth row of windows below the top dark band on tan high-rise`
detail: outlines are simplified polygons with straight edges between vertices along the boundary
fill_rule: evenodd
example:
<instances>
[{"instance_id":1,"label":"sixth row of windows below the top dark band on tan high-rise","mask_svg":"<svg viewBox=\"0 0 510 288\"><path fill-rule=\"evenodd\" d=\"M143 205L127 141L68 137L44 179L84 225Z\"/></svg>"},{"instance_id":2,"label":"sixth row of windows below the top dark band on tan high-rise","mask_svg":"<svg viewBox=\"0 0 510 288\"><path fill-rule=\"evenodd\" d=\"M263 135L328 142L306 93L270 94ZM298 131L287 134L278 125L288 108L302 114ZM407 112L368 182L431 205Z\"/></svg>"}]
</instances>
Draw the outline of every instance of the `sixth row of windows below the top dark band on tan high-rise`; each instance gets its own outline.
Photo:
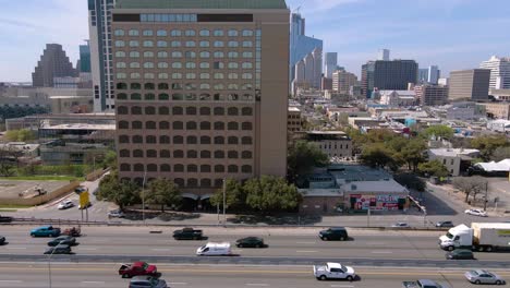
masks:
<instances>
[{"instance_id":1,"label":"sixth row of windows below the top dark band on tan high-rise","mask_svg":"<svg viewBox=\"0 0 510 288\"><path fill-rule=\"evenodd\" d=\"M155 83L145 83L144 85L139 83L131 83L127 85L127 83L117 83L117 89L118 91L123 91L123 89L146 89L146 91L154 91L156 87L160 91L196 91L196 89L202 89L202 91L224 91L224 89L241 89L241 91L252 91L253 85L250 83L244 83L244 84L235 84L235 83L229 83L229 84L223 84L223 83L215 83L215 84L209 84L209 83L158 83L156 85ZM167 95L168 96L168 95Z\"/></svg>"}]
</instances>

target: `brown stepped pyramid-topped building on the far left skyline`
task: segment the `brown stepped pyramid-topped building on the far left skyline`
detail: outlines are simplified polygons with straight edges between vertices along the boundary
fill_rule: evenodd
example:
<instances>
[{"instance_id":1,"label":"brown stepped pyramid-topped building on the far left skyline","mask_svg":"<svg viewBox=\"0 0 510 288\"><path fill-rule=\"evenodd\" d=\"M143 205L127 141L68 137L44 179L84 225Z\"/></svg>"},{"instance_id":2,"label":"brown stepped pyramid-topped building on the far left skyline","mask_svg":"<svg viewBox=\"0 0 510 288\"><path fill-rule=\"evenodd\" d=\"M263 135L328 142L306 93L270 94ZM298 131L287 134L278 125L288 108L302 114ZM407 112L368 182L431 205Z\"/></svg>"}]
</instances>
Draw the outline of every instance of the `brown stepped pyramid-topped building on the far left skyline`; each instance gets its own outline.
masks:
<instances>
[{"instance_id":1,"label":"brown stepped pyramid-topped building on the far left skyline","mask_svg":"<svg viewBox=\"0 0 510 288\"><path fill-rule=\"evenodd\" d=\"M47 44L37 62L32 82L35 87L53 87L56 77L75 77L76 70L60 44Z\"/></svg>"}]
</instances>

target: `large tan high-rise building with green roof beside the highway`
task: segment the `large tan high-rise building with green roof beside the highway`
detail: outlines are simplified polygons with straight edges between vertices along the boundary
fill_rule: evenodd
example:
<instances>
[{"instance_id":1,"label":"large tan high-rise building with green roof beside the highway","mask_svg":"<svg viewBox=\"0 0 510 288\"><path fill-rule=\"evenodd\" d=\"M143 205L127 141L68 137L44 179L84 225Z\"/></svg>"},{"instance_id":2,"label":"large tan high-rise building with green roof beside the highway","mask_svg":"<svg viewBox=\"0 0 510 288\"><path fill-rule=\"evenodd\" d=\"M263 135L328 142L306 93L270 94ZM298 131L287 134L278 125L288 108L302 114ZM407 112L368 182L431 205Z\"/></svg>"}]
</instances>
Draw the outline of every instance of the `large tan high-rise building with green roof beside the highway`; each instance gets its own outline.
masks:
<instances>
[{"instance_id":1,"label":"large tan high-rise building with green roof beside the highway","mask_svg":"<svg viewBox=\"0 0 510 288\"><path fill-rule=\"evenodd\" d=\"M117 0L120 177L207 199L222 179L287 172L284 0Z\"/></svg>"}]
</instances>

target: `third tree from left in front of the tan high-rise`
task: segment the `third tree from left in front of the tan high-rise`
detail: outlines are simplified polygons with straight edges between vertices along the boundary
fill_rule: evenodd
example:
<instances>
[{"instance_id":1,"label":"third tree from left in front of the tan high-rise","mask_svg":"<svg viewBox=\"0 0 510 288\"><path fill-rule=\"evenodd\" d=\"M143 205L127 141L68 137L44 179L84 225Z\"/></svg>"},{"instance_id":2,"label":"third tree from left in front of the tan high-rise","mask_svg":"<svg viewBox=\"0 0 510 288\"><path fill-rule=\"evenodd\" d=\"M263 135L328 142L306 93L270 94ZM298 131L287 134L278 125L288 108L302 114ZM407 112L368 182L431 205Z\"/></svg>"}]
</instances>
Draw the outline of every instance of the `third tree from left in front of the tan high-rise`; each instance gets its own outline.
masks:
<instances>
[{"instance_id":1,"label":"third tree from left in front of the tan high-rise","mask_svg":"<svg viewBox=\"0 0 510 288\"><path fill-rule=\"evenodd\" d=\"M235 179L227 179L224 189L224 201L227 208L241 209L246 205L246 193L243 185ZM218 189L210 197L210 204L214 206L223 206L223 189Z\"/></svg>"}]
</instances>

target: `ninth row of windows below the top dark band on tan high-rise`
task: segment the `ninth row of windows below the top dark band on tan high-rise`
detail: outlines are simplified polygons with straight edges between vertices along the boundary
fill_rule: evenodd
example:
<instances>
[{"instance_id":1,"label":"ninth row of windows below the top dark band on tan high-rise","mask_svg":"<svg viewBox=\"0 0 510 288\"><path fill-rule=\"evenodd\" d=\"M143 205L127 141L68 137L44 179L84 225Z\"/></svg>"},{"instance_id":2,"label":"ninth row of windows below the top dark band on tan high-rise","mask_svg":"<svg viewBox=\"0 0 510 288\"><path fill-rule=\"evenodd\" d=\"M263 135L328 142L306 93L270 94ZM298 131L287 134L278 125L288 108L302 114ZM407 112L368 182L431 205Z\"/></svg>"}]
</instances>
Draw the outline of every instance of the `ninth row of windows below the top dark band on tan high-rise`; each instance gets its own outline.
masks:
<instances>
[{"instance_id":1,"label":"ninth row of windows below the top dark band on tan high-rise","mask_svg":"<svg viewBox=\"0 0 510 288\"><path fill-rule=\"evenodd\" d=\"M227 125L224 122L215 122L214 124L208 121L202 121L202 122L195 122L195 121L174 121L171 124L173 130L216 130L216 131L222 131L222 130L229 130L229 131L236 131L240 130L240 124L238 122L229 122ZM119 121L119 129L120 130L129 130L130 129L130 122L129 121ZM131 122L131 129L148 129L148 130L170 130L170 122L168 121L161 121L159 124L157 124L155 121L147 121L145 122L145 125L142 121L133 121ZM253 124L251 122L243 122L241 124L241 130L244 131L252 131L253 130Z\"/></svg>"}]
</instances>

